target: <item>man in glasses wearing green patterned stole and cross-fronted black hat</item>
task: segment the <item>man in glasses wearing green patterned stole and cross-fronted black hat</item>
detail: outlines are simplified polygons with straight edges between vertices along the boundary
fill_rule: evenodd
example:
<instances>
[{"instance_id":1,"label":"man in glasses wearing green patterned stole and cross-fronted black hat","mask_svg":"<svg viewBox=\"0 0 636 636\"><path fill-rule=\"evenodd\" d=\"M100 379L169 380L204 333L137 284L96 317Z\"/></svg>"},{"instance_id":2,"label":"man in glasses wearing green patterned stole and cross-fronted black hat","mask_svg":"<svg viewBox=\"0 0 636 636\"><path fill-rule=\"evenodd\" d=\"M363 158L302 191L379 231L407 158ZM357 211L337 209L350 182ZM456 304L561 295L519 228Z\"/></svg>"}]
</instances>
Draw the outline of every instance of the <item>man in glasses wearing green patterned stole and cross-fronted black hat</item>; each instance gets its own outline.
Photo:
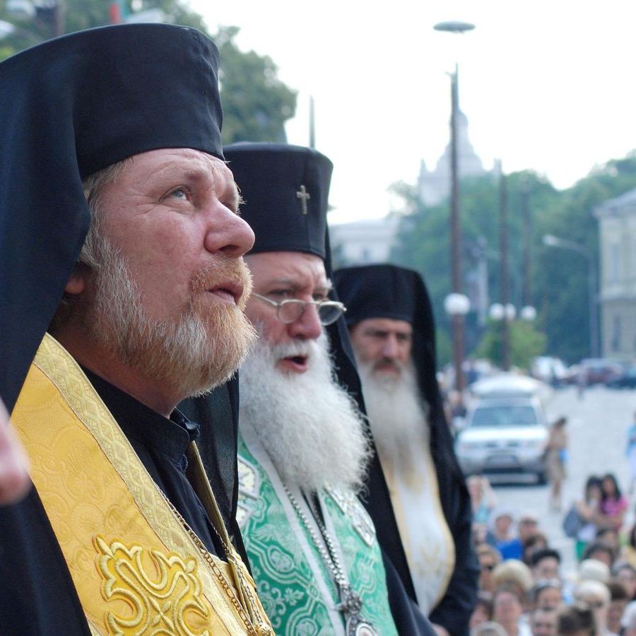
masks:
<instances>
[{"instance_id":1,"label":"man in glasses wearing green patterned stole and cross-fronted black hat","mask_svg":"<svg viewBox=\"0 0 636 636\"><path fill-rule=\"evenodd\" d=\"M240 370L237 519L259 596L280 635L429 634L391 563L385 570L356 497L370 474L382 477L325 333L339 326L346 336L327 277L331 162L267 143L237 143L224 154L256 235L246 313L260 339ZM339 341L331 346L342 351Z\"/></svg>"}]
</instances>

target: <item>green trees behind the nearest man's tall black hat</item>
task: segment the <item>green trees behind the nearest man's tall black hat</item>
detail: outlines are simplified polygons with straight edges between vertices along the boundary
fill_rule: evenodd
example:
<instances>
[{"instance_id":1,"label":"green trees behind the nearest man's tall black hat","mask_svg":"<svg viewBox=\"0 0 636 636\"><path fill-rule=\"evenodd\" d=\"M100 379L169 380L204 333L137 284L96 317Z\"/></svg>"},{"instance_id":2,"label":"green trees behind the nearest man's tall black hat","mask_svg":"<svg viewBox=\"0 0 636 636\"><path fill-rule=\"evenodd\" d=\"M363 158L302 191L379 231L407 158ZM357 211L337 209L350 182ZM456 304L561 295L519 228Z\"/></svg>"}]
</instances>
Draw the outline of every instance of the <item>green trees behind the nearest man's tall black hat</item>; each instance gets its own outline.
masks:
<instances>
[{"instance_id":1,"label":"green trees behind the nearest man's tall black hat","mask_svg":"<svg viewBox=\"0 0 636 636\"><path fill-rule=\"evenodd\" d=\"M60 24L63 33L110 23L110 2L106 0L58 0L64 8ZM124 15L158 8L170 23L192 26L207 35L203 18L183 0L124 0ZM0 40L0 60L25 47L47 40L56 33L54 13L39 11L34 18L18 19L0 0L0 20L16 30ZM234 141L285 141L285 122L294 116L296 93L278 79L270 57L254 51L242 52L235 43L237 27L220 28L211 35L220 51L220 88L223 102L223 143Z\"/></svg>"}]
</instances>

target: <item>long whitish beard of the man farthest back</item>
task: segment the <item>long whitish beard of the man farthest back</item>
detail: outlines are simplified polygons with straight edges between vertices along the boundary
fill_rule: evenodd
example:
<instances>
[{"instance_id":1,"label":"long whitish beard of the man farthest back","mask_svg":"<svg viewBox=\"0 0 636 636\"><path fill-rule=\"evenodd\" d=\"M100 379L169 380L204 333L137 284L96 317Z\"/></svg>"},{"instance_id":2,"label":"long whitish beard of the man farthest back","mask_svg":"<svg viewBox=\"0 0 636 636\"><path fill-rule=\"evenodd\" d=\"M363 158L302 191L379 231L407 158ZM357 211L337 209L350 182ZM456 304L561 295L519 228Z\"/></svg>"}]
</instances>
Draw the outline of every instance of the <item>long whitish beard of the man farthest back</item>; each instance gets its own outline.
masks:
<instances>
[{"instance_id":1,"label":"long whitish beard of the man farthest back","mask_svg":"<svg viewBox=\"0 0 636 636\"><path fill-rule=\"evenodd\" d=\"M420 397L413 363L400 365L398 376L377 372L373 363L358 363L367 416L382 458L408 469L413 449L428 448L428 404Z\"/></svg>"}]
</instances>

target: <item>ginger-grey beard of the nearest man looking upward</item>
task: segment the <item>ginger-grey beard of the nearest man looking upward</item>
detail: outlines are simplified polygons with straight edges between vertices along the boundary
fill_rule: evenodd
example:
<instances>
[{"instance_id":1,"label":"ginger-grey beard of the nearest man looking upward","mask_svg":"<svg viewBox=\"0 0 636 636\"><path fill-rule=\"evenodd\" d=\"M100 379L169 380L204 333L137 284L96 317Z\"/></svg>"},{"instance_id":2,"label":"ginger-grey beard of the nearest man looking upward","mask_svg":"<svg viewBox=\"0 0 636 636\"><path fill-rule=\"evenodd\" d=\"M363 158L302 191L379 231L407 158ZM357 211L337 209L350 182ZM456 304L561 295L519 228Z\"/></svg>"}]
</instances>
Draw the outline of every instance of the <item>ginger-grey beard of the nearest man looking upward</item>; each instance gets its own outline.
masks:
<instances>
[{"instance_id":1,"label":"ginger-grey beard of the nearest man looking upward","mask_svg":"<svg viewBox=\"0 0 636 636\"><path fill-rule=\"evenodd\" d=\"M230 266L218 264L224 268ZM153 319L126 260L105 238L96 272L97 293L83 316L85 329L122 363L171 387L182 399L230 379L256 339L238 307L202 311L191 305L171 322Z\"/></svg>"}]
</instances>

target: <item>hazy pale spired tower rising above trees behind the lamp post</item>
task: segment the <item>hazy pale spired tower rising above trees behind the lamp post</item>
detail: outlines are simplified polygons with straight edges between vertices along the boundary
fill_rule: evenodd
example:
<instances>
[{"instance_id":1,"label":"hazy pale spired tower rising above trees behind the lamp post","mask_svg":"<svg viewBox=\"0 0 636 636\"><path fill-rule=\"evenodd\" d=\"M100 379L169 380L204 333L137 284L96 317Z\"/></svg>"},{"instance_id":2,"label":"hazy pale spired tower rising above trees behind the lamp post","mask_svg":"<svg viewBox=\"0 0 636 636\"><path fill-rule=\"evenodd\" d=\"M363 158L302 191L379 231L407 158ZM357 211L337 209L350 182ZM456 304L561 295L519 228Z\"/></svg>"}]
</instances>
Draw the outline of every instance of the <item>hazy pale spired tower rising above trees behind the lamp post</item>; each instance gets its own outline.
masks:
<instances>
[{"instance_id":1,"label":"hazy pale spired tower rising above trees behind the lamp post","mask_svg":"<svg viewBox=\"0 0 636 636\"><path fill-rule=\"evenodd\" d=\"M420 199L427 206L435 206L440 201L447 199L450 192L450 141L444 154L437 160L435 170L429 172L424 160L420 164L420 176L418 177L418 192ZM473 150L468 134L468 117L459 111L457 118L457 165L459 177L469 177L487 174L481 159Z\"/></svg>"}]
</instances>

